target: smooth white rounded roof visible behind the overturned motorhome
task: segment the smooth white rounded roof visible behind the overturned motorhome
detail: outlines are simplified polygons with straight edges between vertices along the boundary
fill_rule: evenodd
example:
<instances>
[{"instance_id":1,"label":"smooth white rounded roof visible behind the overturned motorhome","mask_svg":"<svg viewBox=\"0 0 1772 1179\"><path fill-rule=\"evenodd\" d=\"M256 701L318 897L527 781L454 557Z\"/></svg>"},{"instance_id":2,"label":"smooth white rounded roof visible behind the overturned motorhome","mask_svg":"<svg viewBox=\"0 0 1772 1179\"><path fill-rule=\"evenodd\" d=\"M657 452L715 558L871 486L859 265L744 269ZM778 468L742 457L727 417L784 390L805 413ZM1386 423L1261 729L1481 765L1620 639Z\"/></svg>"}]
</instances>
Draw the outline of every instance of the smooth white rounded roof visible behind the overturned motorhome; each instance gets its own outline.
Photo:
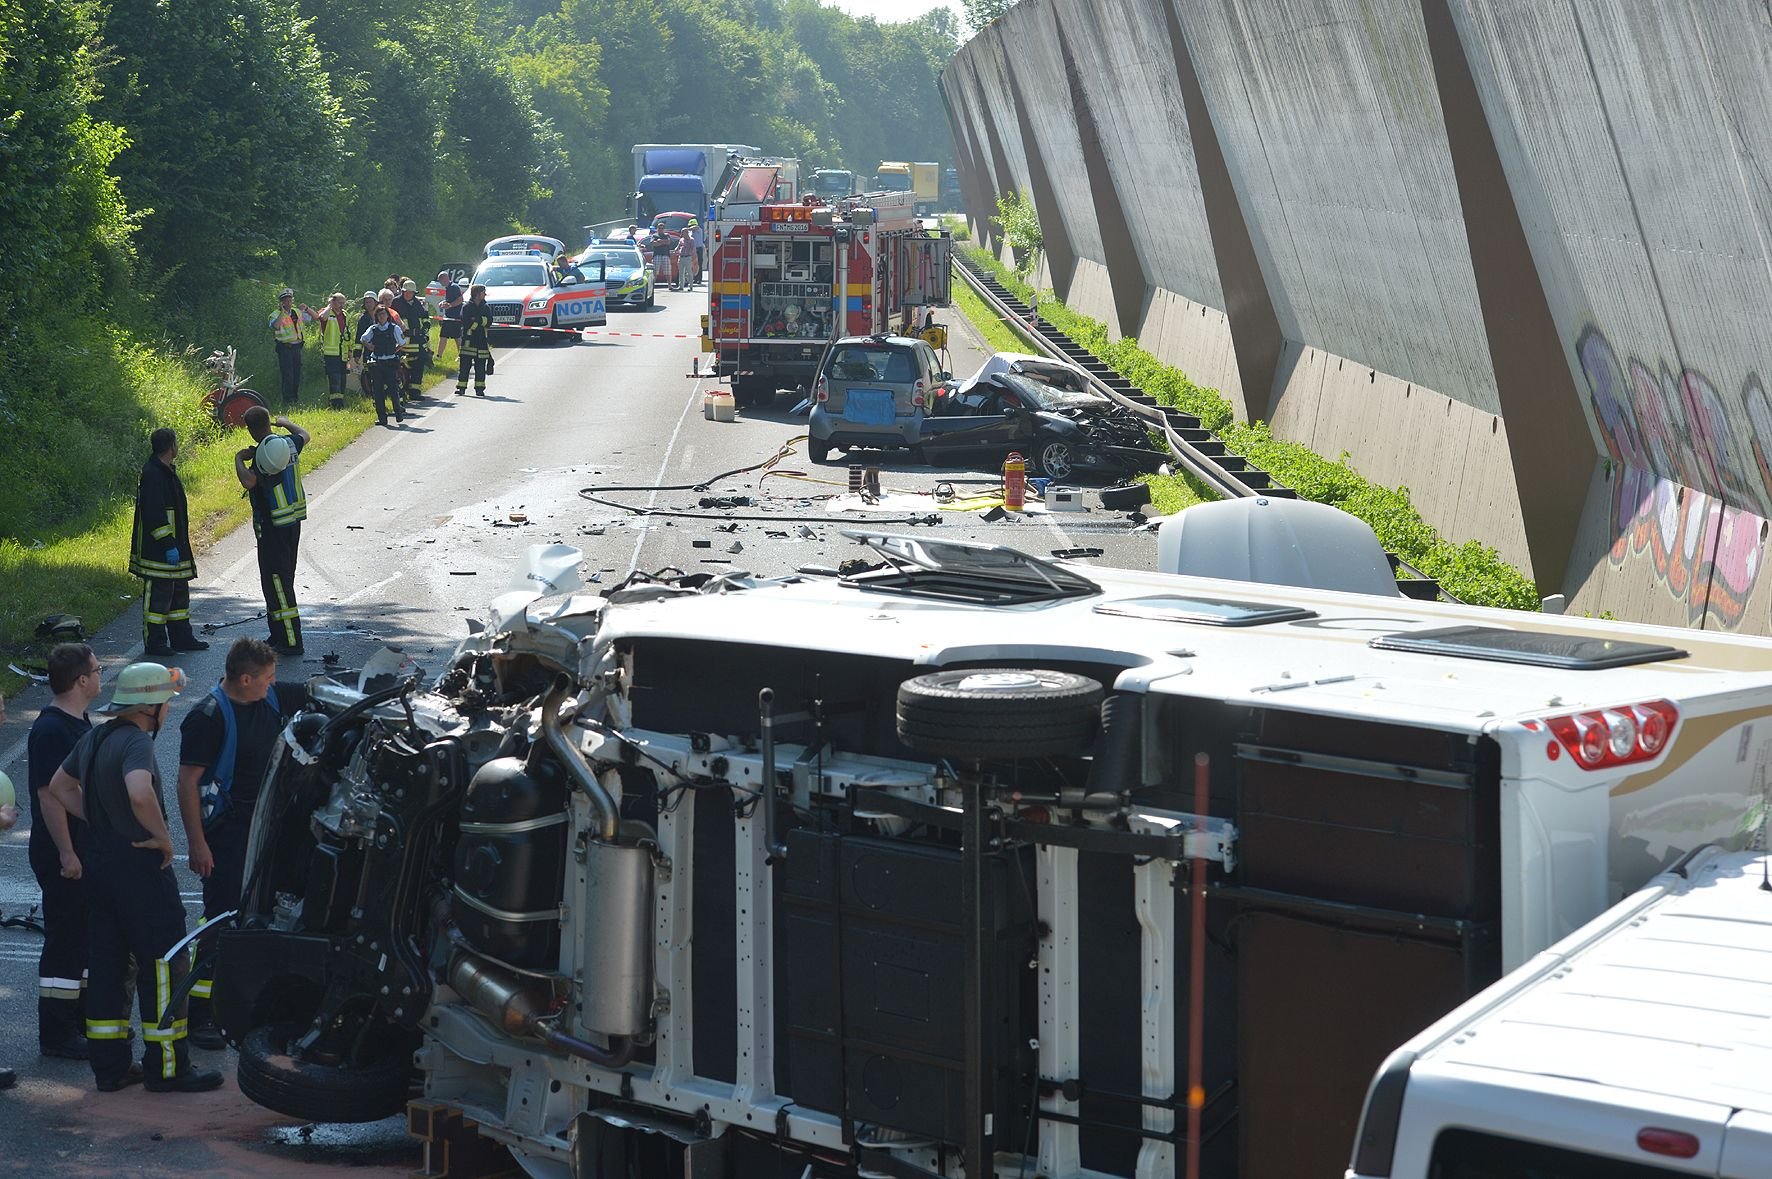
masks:
<instances>
[{"instance_id":1,"label":"smooth white rounded roof visible behind the overturned motorhome","mask_svg":"<svg viewBox=\"0 0 1772 1179\"><path fill-rule=\"evenodd\" d=\"M1366 521L1310 500L1196 504L1157 527L1157 571L1400 597Z\"/></svg>"}]
</instances>

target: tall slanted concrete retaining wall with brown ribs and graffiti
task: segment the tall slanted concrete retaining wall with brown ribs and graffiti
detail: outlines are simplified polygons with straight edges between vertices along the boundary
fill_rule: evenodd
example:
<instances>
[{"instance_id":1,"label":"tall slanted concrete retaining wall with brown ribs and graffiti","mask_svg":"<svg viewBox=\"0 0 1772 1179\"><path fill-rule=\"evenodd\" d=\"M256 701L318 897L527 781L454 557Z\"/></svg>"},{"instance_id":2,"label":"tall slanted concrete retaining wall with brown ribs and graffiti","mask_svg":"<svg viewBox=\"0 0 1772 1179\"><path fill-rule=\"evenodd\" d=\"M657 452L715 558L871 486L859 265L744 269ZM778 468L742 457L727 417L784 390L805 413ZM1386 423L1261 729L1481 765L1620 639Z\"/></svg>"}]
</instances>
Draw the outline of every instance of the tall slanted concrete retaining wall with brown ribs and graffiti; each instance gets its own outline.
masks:
<instances>
[{"instance_id":1,"label":"tall slanted concrete retaining wall with brown ribs and graffiti","mask_svg":"<svg viewBox=\"0 0 1772 1179\"><path fill-rule=\"evenodd\" d=\"M943 89L1079 310L1575 610L1765 633L1768 60L1756 0L1022 0Z\"/></svg>"}]
</instances>

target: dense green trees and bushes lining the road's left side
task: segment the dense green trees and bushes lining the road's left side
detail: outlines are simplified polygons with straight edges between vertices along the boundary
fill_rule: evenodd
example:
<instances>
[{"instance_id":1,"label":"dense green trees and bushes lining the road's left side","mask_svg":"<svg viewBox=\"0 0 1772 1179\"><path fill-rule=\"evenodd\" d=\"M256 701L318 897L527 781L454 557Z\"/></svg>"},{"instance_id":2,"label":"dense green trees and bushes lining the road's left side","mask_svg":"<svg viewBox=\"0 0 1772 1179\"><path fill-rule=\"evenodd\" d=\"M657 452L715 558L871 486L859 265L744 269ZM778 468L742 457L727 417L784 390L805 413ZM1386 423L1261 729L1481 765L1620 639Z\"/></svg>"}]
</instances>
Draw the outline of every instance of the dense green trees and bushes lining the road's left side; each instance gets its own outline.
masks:
<instances>
[{"instance_id":1,"label":"dense green trees and bushes lining the road's left side","mask_svg":"<svg viewBox=\"0 0 1772 1179\"><path fill-rule=\"evenodd\" d=\"M237 344L275 388L278 287L321 305L512 229L583 241L624 218L636 142L948 163L957 37L946 9L817 0L0 0L9 576L110 535L154 426L213 438L195 356ZM0 601L0 649L14 626Z\"/></svg>"}]
</instances>

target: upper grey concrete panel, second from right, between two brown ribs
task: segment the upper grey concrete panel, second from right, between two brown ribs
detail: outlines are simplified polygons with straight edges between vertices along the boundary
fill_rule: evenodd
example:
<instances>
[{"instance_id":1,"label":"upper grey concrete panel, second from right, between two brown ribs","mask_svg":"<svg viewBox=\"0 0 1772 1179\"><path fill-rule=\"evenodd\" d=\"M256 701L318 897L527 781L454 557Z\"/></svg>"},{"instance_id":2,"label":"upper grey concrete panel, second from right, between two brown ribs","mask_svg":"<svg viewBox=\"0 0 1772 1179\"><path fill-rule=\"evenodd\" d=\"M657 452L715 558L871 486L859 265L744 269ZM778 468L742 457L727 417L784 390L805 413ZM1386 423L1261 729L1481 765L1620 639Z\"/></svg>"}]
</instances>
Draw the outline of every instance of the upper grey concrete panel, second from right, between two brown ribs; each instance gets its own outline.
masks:
<instances>
[{"instance_id":1,"label":"upper grey concrete panel, second from right, between two brown ribs","mask_svg":"<svg viewBox=\"0 0 1772 1179\"><path fill-rule=\"evenodd\" d=\"M1177 14L1286 339L1497 411L1419 4Z\"/></svg>"}]
</instances>

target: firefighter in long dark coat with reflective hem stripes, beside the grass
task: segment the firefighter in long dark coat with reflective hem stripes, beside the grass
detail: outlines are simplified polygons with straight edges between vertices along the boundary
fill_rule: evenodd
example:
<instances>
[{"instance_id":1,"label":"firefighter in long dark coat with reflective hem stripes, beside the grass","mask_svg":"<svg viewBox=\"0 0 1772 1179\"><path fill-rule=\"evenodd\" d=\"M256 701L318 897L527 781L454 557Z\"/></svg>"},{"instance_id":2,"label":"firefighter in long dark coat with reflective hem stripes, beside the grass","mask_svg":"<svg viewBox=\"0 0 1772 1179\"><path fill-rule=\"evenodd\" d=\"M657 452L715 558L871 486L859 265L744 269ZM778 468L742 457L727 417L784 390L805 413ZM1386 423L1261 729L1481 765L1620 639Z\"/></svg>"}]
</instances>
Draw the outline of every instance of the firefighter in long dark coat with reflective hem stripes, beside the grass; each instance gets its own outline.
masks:
<instances>
[{"instance_id":1,"label":"firefighter in long dark coat with reflective hem stripes, beside the grass","mask_svg":"<svg viewBox=\"0 0 1772 1179\"><path fill-rule=\"evenodd\" d=\"M209 644L191 631L197 555L191 551L184 484L174 466L179 436L163 426L149 434L147 443L152 454L142 466L129 532L129 573L142 578L142 642L147 654L161 658L207 651Z\"/></svg>"}]
</instances>

